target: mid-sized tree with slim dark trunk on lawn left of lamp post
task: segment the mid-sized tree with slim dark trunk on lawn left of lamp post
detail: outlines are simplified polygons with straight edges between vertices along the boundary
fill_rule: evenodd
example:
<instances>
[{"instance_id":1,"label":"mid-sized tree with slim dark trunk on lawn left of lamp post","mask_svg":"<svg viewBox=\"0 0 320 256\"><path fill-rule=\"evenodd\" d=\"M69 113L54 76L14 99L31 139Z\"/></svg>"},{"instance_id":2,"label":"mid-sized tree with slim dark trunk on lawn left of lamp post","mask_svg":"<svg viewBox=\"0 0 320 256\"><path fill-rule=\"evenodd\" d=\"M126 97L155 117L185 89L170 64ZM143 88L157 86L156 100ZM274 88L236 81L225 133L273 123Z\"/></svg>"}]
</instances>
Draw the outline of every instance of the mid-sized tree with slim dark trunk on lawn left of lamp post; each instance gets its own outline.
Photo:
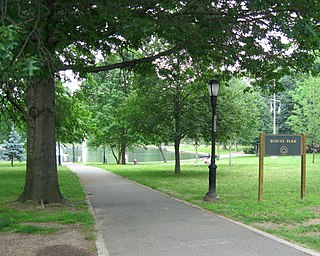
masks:
<instances>
[{"instance_id":1,"label":"mid-sized tree with slim dark trunk on lawn left of lamp post","mask_svg":"<svg viewBox=\"0 0 320 256\"><path fill-rule=\"evenodd\" d=\"M184 58L177 57L184 55ZM184 52L166 57L155 73L140 76L128 108L132 129L149 143L173 142L176 174L181 173L180 143L196 139L206 123L203 91L207 88L200 77L201 69Z\"/></svg>"}]
</instances>

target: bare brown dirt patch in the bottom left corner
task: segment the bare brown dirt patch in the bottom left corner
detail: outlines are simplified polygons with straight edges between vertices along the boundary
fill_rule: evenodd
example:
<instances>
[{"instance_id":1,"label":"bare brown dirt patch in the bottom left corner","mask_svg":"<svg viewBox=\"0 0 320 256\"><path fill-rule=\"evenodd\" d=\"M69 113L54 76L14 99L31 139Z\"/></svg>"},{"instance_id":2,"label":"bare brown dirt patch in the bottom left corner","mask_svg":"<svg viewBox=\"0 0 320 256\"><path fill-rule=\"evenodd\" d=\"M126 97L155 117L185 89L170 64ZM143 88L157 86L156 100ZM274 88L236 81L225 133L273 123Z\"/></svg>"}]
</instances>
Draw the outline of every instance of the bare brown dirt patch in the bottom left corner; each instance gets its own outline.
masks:
<instances>
[{"instance_id":1,"label":"bare brown dirt patch in the bottom left corner","mask_svg":"<svg viewBox=\"0 0 320 256\"><path fill-rule=\"evenodd\" d=\"M0 234L3 256L96 256L95 251L95 241L86 240L76 225L59 225L59 231L48 235Z\"/></svg>"}]
</instances>

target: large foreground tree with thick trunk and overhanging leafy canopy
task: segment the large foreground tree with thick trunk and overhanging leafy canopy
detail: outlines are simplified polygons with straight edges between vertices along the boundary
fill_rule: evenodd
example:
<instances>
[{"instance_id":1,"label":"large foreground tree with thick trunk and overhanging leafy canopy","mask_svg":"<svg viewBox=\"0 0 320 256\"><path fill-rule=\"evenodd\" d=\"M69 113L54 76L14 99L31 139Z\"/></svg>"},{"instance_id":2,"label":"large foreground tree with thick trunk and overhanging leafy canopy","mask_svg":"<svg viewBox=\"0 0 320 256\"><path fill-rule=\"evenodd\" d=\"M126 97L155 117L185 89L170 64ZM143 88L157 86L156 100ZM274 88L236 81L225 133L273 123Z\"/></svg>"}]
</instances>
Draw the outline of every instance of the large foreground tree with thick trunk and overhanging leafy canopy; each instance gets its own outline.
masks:
<instances>
[{"instance_id":1,"label":"large foreground tree with thick trunk and overhanging leafy canopy","mask_svg":"<svg viewBox=\"0 0 320 256\"><path fill-rule=\"evenodd\" d=\"M273 79L270 71L276 67L285 72L312 62L312 50L319 46L317 1L4 0L2 6L1 98L24 110L27 121L23 202L63 202L54 128L59 71L84 75L134 67L183 49L194 61L214 67L216 74L235 67L236 72ZM163 40L163 50L144 51L154 38ZM133 60L97 65L98 52L112 55L130 48L139 51ZM15 92L20 97L10 97ZM18 104L23 92L26 108Z\"/></svg>"}]
</instances>

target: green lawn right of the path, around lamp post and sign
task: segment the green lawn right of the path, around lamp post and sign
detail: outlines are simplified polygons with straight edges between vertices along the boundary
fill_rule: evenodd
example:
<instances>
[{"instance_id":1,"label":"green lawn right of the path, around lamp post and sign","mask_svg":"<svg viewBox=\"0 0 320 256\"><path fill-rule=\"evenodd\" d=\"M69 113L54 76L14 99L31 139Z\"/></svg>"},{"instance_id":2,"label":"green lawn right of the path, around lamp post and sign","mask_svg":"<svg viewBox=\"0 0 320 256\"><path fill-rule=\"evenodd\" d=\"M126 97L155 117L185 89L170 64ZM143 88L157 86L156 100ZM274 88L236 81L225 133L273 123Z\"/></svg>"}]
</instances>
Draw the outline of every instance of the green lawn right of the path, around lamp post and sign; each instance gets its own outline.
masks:
<instances>
[{"instance_id":1,"label":"green lawn right of the path, around lamp post and sign","mask_svg":"<svg viewBox=\"0 0 320 256\"><path fill-rule=\"evenodd\" d=\"M318 161L318 160L316 160ZM113 173L320 251L320 167L307 159L306 199L300 199L300 157L265 158L264 196L258 202L258 157L241 157L228 166L217 161L216 203L202 201L208 191L208 167L182 163L97 165Z\"/></svg>"}]
</instances>

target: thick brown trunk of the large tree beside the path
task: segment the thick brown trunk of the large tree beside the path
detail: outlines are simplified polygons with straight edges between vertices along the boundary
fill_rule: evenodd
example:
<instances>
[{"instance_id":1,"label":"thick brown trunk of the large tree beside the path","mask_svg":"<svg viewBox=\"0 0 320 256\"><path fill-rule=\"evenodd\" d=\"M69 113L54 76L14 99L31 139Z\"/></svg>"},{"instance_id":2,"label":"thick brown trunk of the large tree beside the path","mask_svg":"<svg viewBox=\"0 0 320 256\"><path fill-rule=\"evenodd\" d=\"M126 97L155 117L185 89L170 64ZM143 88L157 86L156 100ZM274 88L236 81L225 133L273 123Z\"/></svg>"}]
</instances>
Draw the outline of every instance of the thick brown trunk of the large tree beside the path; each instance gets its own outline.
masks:
<instances>
[{"instance_id":1,"label":"thick brown trunk of the large tree beside the path","mask_svg":"<svg viewBox=\"0 0 320 256\"><path fill-rule=\"evenodd\" d=\"M56 162L54 79L30 83L27 88L27 173L18 200L62 203Z\"/></svg>"}]
</instances>

